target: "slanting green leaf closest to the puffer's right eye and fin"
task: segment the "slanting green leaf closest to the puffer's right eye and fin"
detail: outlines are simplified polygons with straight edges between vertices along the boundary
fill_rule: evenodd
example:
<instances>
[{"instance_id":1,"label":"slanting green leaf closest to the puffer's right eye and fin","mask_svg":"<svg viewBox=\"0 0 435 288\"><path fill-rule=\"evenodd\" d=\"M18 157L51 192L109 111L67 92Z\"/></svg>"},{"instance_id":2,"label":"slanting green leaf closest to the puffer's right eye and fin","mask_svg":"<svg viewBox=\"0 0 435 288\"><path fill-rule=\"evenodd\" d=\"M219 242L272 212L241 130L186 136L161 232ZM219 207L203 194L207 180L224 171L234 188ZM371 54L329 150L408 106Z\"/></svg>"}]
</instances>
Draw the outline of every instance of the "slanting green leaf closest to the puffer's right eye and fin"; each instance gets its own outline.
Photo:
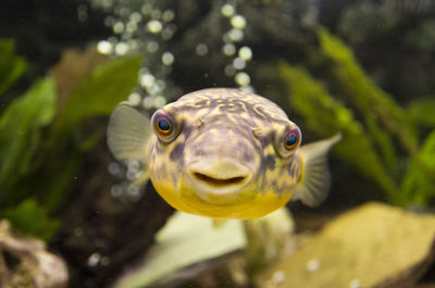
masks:
<instances>
[{"instance_id":1,"label":"slanting green leaf closest to the puffer's right eye and fin","mask_svg":"<svg viewBox=\"0 0 435 288\"><path fill-rule=\"evenodd\" d=\"M303 116L304 125L319 135L330 137L341 132L337 154L363 174L376 180L393 199L396 185L385 170L363 126L353 118L343 102L334 99L319 82L302 67L282 63L279 71L291 91L289 101Z\"/></svg>"}]
</instances>

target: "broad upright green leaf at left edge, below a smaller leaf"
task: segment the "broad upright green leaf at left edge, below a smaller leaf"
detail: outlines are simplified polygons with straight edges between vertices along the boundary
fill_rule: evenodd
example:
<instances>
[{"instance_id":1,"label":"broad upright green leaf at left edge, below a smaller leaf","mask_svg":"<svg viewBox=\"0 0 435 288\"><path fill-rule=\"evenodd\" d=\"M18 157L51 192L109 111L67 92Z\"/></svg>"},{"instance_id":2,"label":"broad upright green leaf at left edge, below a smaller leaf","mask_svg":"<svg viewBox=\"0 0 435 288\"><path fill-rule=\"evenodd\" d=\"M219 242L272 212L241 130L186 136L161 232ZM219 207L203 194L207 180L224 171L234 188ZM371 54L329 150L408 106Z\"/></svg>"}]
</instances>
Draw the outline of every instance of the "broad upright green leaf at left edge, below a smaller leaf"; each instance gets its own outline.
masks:
<instances>
[{"instance_id":1,"label":"broad upright green leaf at left edge, below a smaller leaf","mask_svg":"<svg viewBox=\"0 0 435 288\"><path fill-rule=\"evenodd\" d=\"M13 197L12 188L29 167L41 128L51 123L55 109L52 78L37 82L16 98L0 117L0 201Z\"/></svg>"}]
</instances>

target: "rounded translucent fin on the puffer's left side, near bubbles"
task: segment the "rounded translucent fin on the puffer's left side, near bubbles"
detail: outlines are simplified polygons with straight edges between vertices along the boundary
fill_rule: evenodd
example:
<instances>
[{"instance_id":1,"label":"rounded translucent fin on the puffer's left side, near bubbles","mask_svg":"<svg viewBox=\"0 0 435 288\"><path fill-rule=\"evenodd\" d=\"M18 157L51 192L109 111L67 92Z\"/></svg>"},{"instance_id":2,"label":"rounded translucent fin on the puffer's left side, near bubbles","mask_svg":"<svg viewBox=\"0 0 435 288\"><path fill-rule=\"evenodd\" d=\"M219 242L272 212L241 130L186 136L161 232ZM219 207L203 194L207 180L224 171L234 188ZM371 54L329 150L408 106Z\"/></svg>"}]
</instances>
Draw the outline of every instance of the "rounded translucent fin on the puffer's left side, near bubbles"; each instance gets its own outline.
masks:
<instances>
[{"instance_id":1,"label":"rounded translucent fin on the puffer's left side, near bubbles","mask_svg":"<svg viewBox=\"0 0 435 288\"><path fill-rule=\"evenodd\" d=\"M146 167L151 135L150 121L126 102L110 116L108 146L117 160L137 160Z\"/></svg>"}]
</instances>

